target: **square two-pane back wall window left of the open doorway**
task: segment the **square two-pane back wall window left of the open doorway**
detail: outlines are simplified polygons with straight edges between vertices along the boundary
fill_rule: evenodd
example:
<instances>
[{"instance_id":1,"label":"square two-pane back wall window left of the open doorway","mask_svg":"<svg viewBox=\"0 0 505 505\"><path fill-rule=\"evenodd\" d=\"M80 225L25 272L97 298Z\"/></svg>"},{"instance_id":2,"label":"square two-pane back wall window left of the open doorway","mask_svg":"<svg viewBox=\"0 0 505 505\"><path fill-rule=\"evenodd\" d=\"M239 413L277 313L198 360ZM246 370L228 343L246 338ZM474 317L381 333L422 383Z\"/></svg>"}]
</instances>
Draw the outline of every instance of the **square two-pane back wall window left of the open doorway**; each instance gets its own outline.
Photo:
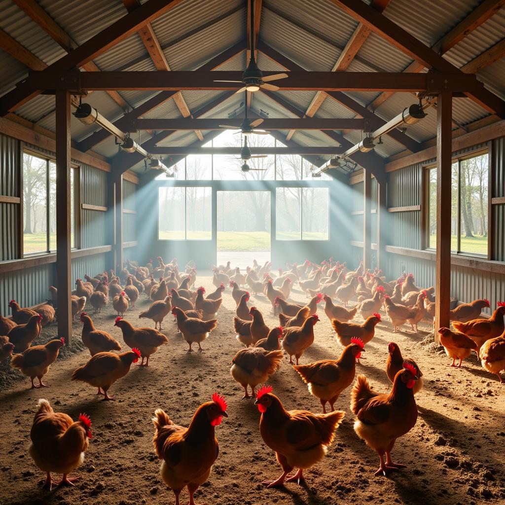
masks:
<instances>
[{"instance_id":1,"label":"square two-pane back wall window left of the open doorway","mask_svg":"<svg viewBox=\"0 0 505 505\"><path fill-rule=\"evenodd\" d=\"M211 240L212 188L160 187L158 238Z\"/></svg>"}]
</instances>

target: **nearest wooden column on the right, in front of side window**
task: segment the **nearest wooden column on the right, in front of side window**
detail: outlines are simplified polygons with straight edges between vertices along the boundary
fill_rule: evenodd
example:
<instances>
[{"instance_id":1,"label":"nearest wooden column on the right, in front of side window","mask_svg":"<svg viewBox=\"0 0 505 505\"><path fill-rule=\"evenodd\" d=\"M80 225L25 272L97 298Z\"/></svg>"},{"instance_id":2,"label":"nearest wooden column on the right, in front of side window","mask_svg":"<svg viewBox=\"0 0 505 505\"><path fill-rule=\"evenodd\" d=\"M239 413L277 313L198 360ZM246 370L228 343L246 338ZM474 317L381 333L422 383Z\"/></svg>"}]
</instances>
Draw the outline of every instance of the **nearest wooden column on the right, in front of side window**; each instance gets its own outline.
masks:
<instances>
[{"instance_id":1,"label":"nearest wooden column on the right, in front of side window","mask_svg":"<svg viewBox=\"0 0 505 505\"><path fill-rule=\"evenodd\" d=\"M435 341L438 329L449 326L452 94L437 98L437 240L435 272Z\"/></svg>"}]
</instances>

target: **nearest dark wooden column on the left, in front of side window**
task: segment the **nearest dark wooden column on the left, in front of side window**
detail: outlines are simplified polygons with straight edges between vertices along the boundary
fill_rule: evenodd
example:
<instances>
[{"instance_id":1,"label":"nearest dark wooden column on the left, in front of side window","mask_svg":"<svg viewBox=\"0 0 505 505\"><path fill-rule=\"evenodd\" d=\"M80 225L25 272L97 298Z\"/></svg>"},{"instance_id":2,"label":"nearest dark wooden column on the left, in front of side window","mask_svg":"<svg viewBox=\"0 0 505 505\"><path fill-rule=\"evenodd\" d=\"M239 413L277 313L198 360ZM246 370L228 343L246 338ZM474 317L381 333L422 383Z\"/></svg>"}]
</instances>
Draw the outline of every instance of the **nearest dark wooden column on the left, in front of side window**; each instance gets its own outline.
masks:
<instances>
[{"instance_id":1,"label":"nearest dark wooden column on the left, in front of side window","mask_svg":"<svg viewBox=\"0 0 505 505\"><path fill-rule=\"evenodd\" d=\"M58 336L72 338L70 302L70 94L56 92L56 270L58 277Z\"/></svg>"}]
</instances>

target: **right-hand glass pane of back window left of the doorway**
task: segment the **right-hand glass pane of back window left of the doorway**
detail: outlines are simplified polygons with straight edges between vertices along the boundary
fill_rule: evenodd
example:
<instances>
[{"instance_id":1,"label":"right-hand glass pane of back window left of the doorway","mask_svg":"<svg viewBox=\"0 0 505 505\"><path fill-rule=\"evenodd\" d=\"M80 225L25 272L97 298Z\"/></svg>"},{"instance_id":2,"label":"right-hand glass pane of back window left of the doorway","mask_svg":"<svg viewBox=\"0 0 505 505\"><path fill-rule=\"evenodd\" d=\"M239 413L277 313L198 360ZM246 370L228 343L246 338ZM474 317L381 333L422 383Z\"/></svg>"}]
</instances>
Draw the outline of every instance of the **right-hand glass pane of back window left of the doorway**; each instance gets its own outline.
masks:
<instances>
[{"instance_id":1,"label":"right-hand glass pane of back window left of the doorway","mask_svg":"<svg viewBox=\"0 0 505 505\"><path fill-rule=\"evenodd\" d=\"M186 238L212 239L212 188L186 188Z\"/></svg>"}]
</instances>

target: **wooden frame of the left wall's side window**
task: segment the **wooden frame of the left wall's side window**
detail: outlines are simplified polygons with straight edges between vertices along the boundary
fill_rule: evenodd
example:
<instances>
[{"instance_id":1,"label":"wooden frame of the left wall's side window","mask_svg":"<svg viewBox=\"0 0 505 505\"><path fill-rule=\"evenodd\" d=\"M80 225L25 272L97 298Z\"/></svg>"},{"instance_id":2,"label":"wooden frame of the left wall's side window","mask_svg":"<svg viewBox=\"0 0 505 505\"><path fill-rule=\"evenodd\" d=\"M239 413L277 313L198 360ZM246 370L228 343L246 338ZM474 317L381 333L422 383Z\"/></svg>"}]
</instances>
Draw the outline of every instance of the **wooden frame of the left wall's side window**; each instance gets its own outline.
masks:
<instances>
[{"instance_id":1,"label":"wooden frame of the left wall's side window","mask_svg":"<svg viewBox=\"0 0 505 505\"><path fill-rule=\"evenodd\" d=\"M46 223L46 248L43 251L34 251L34 252L25 252L25 241L24 241L24 232L22 233L23 240L21 240L21 251L20 251L20 256L21 259L26 259L26 258L37 258L37 257L42 257L42 256L49 256L49 255L54 255L56 254L57 250L51 249L51 227L50 227L50 222L51 222L51 210L50 210L50 205L49 201L51 199L51 173L50 173L50 164L54 163L56 166L56 157L47 153L42 153L41 151L38 151L37 149L32 148L31 146L25 146L23 145L21 147L21 178L20 180L22 181L22 194L21 194L21 200L22 200L22 206L23 206L23 213L21 214L21 227L22 230L24 230L24 221L23 221L23 216L24 216L24 155L28 156L33 156L36 158L39 158L41 160L45 160L45 189L46 189L46 212L45 212L45 223ZM73 179L74 179L74 191L73 191L73 199L74 199L74 219L73 219L73 226L74 226L74 245L72 246L71 250L77 250L81 248L81 230L80 230L80 166L71 163L70 164L70 169L74 170L73 172ZM55 214L56 214L56 209L55 209Z\"/></svg>"}]
</instances>

